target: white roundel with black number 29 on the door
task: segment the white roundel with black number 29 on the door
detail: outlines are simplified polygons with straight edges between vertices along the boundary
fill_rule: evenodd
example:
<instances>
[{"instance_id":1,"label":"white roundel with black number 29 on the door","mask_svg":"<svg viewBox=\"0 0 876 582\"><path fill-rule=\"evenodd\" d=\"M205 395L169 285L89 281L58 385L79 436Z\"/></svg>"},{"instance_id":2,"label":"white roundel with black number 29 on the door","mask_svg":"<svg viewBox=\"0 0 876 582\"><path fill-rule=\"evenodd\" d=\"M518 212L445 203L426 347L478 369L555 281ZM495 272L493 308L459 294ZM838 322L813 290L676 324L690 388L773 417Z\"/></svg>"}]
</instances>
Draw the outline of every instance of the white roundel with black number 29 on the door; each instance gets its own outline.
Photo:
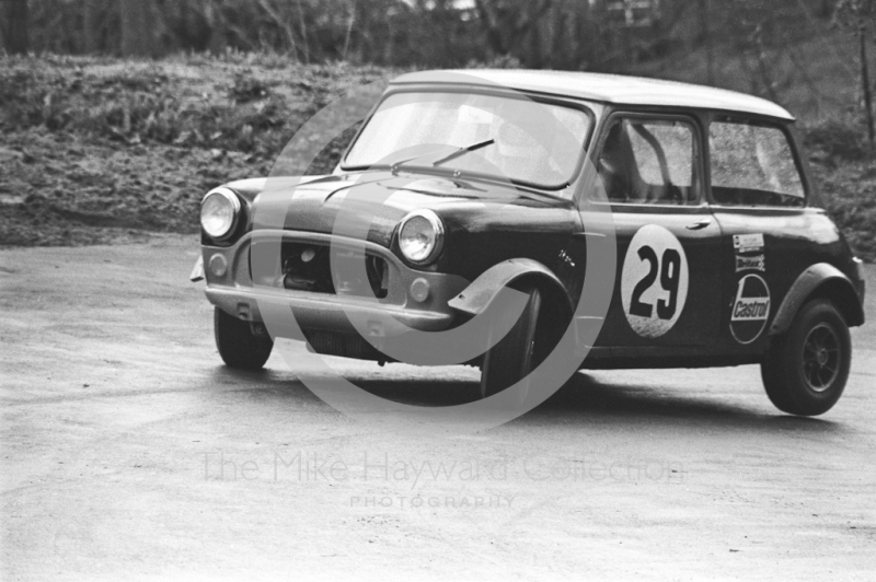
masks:
<instances>
[{"instance_id":1,"label":"white roundel with black number 29 on the door","mask_svg":"<svg viewBox=\"0 0 876 582\"><path fill-rule=\"evenodd\" d=\"M688 300L688 257L667 229L648 224L633 236L623 260L621 300L626 321L642 337L660 337L678 322Z\"/></svg>"}]
</instances>

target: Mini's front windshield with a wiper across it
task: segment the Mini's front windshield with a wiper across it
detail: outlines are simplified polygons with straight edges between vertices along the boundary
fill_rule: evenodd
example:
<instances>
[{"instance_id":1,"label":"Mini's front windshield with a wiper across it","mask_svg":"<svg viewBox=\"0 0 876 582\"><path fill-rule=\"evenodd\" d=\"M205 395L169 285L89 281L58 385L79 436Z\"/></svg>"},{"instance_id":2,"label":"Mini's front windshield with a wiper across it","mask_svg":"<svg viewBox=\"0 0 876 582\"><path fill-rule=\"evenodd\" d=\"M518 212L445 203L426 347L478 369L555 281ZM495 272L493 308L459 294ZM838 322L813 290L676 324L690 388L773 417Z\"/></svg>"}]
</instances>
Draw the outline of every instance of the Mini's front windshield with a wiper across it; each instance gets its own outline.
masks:
<instances>
[{"instance_id":1,"label":"Mini's front windshield with a wiper across it","mask_svg":"<svg viewBox=\"0 0 876 582\"><path fill-rule=\"evenodd\" d=\"M581 109L526 98L395 93L362 129L344 167L438 162L452 171L562 188L575 175L589 128Z\"/></svg>"}]
</instances>

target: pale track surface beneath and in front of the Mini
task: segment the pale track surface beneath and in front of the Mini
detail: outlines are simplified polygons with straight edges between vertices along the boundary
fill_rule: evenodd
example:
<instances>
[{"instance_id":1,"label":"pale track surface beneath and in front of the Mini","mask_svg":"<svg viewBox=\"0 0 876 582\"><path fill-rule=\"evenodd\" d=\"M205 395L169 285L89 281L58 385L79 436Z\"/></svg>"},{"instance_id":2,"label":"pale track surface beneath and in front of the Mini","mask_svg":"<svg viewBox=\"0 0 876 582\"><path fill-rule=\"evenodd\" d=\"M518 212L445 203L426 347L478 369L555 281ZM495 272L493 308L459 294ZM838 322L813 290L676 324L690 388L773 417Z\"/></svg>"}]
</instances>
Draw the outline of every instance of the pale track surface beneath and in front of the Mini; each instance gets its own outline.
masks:
<instances>
[{"instance_id":1,"label":"pale track surface beneath and in front of the Mini","mask_svg":"<svg viewBox=\"0 0 876 582\"><path fill-rule=\"evenodd\" d=\"M222 366L195 237L0 252L2 578L873 580L876 269L850 384L577 374L470 436L364 429L276 354ZM289 349L301 350L301 346ZM477 372L348 362L423 404Z\"/></svg>"}]
</instances>

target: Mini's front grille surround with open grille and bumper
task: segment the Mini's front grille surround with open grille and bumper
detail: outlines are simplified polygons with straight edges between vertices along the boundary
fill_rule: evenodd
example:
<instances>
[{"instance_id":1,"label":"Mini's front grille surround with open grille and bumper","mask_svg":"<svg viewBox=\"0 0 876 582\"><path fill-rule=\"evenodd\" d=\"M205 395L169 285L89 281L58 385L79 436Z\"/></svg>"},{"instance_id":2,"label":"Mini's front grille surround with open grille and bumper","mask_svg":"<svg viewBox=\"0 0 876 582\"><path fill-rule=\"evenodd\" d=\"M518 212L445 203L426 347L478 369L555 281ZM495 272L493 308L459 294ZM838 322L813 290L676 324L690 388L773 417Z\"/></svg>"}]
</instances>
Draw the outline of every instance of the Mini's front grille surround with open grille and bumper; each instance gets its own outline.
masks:
<instances>
[{"instance_id":1,"label":"Mini's front grille surround with open grille and bumper","mask_svg":"<svg viewBox=\"0 0 876 582\"><path fill-rule=\"evenodd\" d=\"M260 268L253 269L251 260L256 246ZM382 293L381 289L374 289L374 295L379 299L367 299L364 296L367 293L357 295L356 282L348 286L343 280L344 269L336 276L338 280L328 283L331 289L327 290L325 286L319 289L319 284L311 286L318 290L307 290L308 282L295 282L295 273L289 272L290 257L300 263L302 259L299 255L303 259L314 260L314 256L322 254L322 260L327 260L325 253L330 247L341 256L360 261L365 260L361 255L364 248L367 257L373 257L371 260L381 265L379 284L382 286ZM295 256L291 256L292 253ZM265 257L272 264L268 268L261 266L265 264ZM322 334L325 339L325 333L358 336L359 331L350 323L350 316L365 322L368 334L376 338L403 333L405 327L419 331L440 331L465 317L448 306L448 301L468 287L468 280L456 275L413 269L388 248L370 242L324 233L261 230L246 233L232 246L205 245L203 260L206 294L210 303L253 324L265 323L266 311L281 314L279 319L286 319L283 315L289 313L308 339L311 339L311 334ZM255 280L253 272L256 273ZM292 283L289 282L290 277ZM336 292L334 287L343 289ZM289 329L285 322L267 322L266 327L272 335L295 335L285 333Z\"/></svg>"}]
</instances>

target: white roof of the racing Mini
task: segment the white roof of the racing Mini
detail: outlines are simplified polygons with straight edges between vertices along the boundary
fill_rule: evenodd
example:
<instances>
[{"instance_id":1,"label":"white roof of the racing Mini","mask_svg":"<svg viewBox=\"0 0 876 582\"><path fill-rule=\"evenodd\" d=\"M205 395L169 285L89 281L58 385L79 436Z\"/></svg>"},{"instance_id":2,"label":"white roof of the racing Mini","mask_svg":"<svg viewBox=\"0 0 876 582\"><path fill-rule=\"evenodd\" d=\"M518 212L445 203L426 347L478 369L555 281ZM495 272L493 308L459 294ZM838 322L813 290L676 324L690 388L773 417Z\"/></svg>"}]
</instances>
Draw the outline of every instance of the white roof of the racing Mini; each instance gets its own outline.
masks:
<instances>
[{"instance_id":1,"label":"white roof of the racing Mini","mask_svg":"<svg viewBox=\"0 0 876 582\"><path fill-rule=\"evenodd\" d=\"M520 69L460 69L418 71L395 78L392 84L452 83L504 85L519 91L549 93L618 105L657 105L741 112L793 120L784 107L752 95L661 79L569 71Z\"/></svg>"}]
</instances>

